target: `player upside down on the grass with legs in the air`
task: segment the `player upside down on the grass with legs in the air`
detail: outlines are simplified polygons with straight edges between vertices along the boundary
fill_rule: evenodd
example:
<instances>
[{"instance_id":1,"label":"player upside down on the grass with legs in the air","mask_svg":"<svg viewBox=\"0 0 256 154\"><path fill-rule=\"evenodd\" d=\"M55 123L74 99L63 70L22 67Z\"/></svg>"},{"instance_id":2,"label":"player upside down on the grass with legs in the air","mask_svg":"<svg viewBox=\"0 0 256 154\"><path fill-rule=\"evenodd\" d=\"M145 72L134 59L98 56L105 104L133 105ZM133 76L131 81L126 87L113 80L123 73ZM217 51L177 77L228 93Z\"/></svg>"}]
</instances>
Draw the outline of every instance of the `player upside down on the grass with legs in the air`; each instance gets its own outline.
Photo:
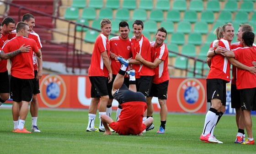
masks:
<instances>
[{"instance_id":1,"label":"player upside down on the grass with legs in the air","mask_svg":"<svg viewBox=\"0 0 256 154\"><path fill-rule=\"evenodd\" d=\"M149 117L144 122L142 121L147 103L144 94L136 92L135 70L126 72L129 75L128 89L123 81L129 61L122 57L117 57L117 60L122 65L114 80L112 95L122 105L123 110L117 122L113 121L107 114L101 114L101 121L106 129L104 134L112 134L110 127L119 135L142 135L143 130L153 123L153 118Z\"/></svg>"}]
</instances>

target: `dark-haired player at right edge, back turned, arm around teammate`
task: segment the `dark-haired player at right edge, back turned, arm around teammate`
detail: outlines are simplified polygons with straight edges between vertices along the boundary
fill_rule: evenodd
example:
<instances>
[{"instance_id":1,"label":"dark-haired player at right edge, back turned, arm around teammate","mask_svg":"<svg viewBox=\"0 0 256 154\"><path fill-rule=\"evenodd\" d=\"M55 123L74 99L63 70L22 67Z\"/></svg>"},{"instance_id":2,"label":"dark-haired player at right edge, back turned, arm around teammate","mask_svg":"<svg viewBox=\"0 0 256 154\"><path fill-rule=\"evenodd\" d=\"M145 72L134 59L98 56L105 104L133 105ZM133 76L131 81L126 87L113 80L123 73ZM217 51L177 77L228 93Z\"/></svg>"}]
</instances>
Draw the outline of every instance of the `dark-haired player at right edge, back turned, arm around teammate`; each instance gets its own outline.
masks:
<instances>
[{"instance_id":1,"label":"dark-haired player at right edge, back turned, arm around teammate","mask_svg":"<svg viewBox=\"0 0 256 154\"><path fill-rule=\"evenodd\" d=\"M223 51L223 54L227 57L235 58L244 65L253 66L252 61L256 60L256 49L252 47L254 38L255 35L253 32L243 32L241 40L243 48L236 48L233 51ZM255 110L256 106L256 75L239 68L237 68L236 75L236 88L240 91L240 105L244 114L245 128L248 134L248 139L242 142L242 144L254 144L251 110Z\"/></svg>"}]
</instances>

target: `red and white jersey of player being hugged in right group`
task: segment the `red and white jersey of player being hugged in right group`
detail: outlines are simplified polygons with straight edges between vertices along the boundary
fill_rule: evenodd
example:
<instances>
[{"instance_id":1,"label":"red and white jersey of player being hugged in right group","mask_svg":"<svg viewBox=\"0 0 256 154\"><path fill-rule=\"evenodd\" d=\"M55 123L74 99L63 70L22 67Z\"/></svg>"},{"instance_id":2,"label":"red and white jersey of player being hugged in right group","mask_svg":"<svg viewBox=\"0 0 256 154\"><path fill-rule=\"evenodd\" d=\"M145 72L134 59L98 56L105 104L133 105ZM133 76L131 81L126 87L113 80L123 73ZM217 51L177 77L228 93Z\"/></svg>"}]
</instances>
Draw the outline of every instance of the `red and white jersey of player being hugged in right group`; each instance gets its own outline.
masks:
<instances>
[{"instance_id":1,"label":"red and white jersey of player being hugged in right group","mask_svg":"<svg viewBox=\"0 0 256 154\"><path fill-rule=\"evenodd\" d=\"M210 48L214 46L214 42L216 42L216 40L213 41ZM219 46L230 50L230 43L225 39L219 40ZM230 82L230 63L227 57L221 54L216 54L212 57L212 64L207 79L223 79L226 83Z\"/></svg>"}]
</instances>

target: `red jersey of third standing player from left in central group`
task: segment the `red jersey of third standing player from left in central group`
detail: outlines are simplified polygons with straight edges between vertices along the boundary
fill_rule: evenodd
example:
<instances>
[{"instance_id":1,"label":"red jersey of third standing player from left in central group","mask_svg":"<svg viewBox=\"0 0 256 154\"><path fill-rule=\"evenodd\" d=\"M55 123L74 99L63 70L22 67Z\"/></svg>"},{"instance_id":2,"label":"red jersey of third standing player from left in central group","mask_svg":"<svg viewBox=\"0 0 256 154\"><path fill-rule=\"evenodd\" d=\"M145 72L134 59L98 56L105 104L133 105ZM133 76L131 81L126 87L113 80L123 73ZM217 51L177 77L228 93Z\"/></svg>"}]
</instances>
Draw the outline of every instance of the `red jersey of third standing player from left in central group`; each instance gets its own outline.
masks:
<instances>
[{"instance_id":1,"label":"red jersey of third standing player from left in central group","mask_svg":"<svg viewBox=\"0 0 256 154\"><path fill-rule=\"evenodd\" d=\"M138 41L135 39L135 36L133 36L131 40L133 59L135 60L136 54L139 53L144 60L152 62L149 40L144 35L142 35L141 39ZM133 69L135 70L135 78L140 78L141 75L153 76L155 74L153 69L143 64L133 64Z\"/></svg>"}]
</instances>

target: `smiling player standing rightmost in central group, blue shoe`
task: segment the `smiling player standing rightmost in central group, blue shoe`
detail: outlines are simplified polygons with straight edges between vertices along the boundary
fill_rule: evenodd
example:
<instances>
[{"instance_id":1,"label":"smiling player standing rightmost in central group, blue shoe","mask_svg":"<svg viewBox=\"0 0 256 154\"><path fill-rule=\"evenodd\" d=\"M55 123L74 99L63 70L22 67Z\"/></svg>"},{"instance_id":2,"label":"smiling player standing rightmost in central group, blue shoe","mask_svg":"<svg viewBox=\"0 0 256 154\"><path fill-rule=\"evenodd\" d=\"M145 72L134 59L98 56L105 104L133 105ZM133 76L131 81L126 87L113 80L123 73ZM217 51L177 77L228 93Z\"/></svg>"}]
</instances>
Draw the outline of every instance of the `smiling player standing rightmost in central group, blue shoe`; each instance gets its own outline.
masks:
<instances>
[{"instance_id":1,"label":"smiling player standing rightmost in central group, blue shoe","mask_svg":"<svg viewBox=\"0 0 256 154\"><path fill-rule=\"evenodd\" d=\"M169 74L168 74L168 49L164 43L166 39L167 32L165 28L160 27L155 34L155 41L150 43L151 46L151 56L152 61L147 61L142 58L142 56L137 53L136 60L139 60L147 67L154 69L155 75L153 78L153 84L149 93L149 102L151 102L153 96L158 97L160 104L160 129L157 131L158 134L165 133L165 124L167 119L167 89L169 84ZM152 116L153 113L147 113Z\"/></svg>"}]
</instances>

